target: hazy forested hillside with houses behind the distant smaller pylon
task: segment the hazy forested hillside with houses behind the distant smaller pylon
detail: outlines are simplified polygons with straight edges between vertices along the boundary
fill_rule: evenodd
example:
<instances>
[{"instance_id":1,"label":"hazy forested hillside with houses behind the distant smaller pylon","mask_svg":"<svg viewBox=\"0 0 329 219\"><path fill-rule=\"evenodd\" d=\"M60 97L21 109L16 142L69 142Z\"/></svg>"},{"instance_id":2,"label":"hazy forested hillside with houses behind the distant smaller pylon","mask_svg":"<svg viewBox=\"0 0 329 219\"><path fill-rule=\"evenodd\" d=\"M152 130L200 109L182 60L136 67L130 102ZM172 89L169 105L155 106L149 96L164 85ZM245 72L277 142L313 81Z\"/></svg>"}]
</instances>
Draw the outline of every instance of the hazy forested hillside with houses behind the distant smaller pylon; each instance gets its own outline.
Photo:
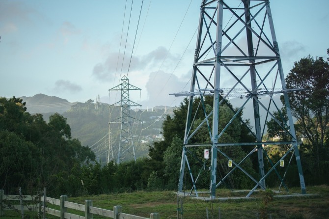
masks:
<instances>
[{"instance_id":1,"label":"hazy forested hillside with houses behind the distant smaller pylon","mask_svg":"<svg viewBox=\"0 0 329 219\"><path fill-rule=\"evenodd\" d=\"M162 139L162 123L167 113L172 114L172 109L130 110L137 158L147 157L148 145ZM111 146L114 150L118 147L121 124L116 121L120 121L121 107L110 107L108 104L89 101L75 104L62 115L67 118L67 123L71 126L72 136L79 138L82 145L89 146L95 152L98 161L107 160L109 130Z\"/></svg>"}]
</instances>

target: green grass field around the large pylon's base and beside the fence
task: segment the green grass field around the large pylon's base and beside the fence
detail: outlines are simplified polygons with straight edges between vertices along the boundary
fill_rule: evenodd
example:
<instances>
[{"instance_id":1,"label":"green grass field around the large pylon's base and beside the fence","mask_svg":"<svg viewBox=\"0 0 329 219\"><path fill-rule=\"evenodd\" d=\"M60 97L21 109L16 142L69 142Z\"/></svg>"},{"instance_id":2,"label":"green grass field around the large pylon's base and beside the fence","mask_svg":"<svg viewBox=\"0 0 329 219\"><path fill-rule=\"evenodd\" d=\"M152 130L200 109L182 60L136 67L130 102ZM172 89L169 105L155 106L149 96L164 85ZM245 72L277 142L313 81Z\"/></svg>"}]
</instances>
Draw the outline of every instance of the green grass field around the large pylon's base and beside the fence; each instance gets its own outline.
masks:
<instances>
[{"instance_id":1,"label":"green grass field around the large pylon's base and beside the fence","mask_svg":"<svg viewBox=\"0 0 329 219\"><path fill-rule=\"evenodd\" d=\"M205 198L193 199L184 197L182 215L184 219L205 219L206 209L210 219L329 219L329 186L307 187L307 195L284 196L300 193L300 188L290 189L290 193L255 192L250 199L227 199L206 201ZM245 196L246 192L230 192L218 190L217 197ZM201 195L201 194L200 194ZM271 197L271 195L275 195ZM206 194L208 197L209 194ZM68 201L84 204L84 200L93 200L93 206L113 210L113 206L122 206L122 211L141 217L149 217L150 213L158 212L161 219L177 219L176 192L133 192L104 194L97 196L69 197ZM77 212L71 212L77 214ZM83 215L83 213L79 213ZM27 213L28 215L28 213ZM19 213L6 211L1 219L21 218ZM26 217L30 218L30 217ZM58 219L47 215L48 219ZM94 219L105 217L94 216Z\"/></svg>"}]
</instances>

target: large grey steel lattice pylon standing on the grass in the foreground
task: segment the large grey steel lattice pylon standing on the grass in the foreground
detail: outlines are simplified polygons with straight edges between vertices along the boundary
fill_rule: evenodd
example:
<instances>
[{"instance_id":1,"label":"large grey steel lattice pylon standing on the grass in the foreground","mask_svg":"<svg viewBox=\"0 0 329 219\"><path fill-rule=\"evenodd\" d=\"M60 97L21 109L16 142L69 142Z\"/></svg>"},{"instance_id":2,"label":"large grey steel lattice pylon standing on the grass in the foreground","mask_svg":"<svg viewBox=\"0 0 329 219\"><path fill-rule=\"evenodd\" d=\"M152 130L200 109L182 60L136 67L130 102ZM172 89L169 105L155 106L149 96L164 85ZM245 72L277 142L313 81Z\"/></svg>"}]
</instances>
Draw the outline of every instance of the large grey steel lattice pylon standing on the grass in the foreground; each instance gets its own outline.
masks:
<instances>
[{"instance_id":1,"label":"large grey steel lattice pylon standing on the grass in the foreground","mask_svg":"<svg viewBox=\"0 0 329 219\"><path fill-rule=\"evenodd\" d=\"M255 184L247 194L247 197L258 187L265 190L265 179L272 172L276 173L278 179L281 181L281 185L287 189L284 184L286 172L282 177L278 174L277 168L290 155L291 158L295 155L301 189L304 194L306 189L298 150L298 141L288 100L288 92L298 89L287 90L286 88L269 0L202 0L200 9L191 89L187 92L170 94L176 96L185 95L189 99L178 191L182 192L183 190L184 171L187 166L189 168L188 175L190 175L192 181L191 192L194 190L196 195L198 195L196 190L198 177L193 176L189 156L191 157L192 154L191 147L202 147L211 149L211 164L209 168L211 171L210 198L215 198L216 188L223 184L232 172L239 170L243 171ZM223 84L225 86L231 86L231 88L222 88ZM237 90L242 91L243 95L241 97L245 101L239 108L233 109L228 104L228 98L230 95L236 93ZM279 103L275 103L273 99L275 93L281 93L284 97L287 121L284 119L280 121L270 111L270 106L272 105L280 112L280 109L277 107ZM213 108L211 112L207 111L204 106L205 95L213 96ZM262 102L260 98L265 95L270 97L268 103ZM194 103L194 96L200 97L200 103ZM225 140L227 138L223 138L223 135L230 125L232 125L233 121L238 119L240 123L245 124L240 114L248 102L252 102L253 105L253 118L250 119L254 120L255 127L253 131L247 125L246 127L255 141L230 142ZM222 104L226 104L230 108L232 117L228 119L229 122L219 125L219 106ZM197 105L199 107L196 107ZM195 108L201 108L199 110L203 110L205 116L202 122L200 120L194 120L193 113L195 113ZM262 121L260 116L263 116L262 119L265 120ZM210 121L211 118L212 121ZM282 118L284 117L282 116ZM266 122L270 119L274 119L282 129L282 132L288 136L289 140L274 142L264 141L262 139L266 130ZM199 121L199 123L196 121ZM202 126L207 126L209 130L209 142L190 143L193 139L192 137L200 132ZM287 144L290 147L288 152L280 160L275 161L276 163L271 161L266 150L263 148L264 146L274 144ZM244 159L235 161L227 153L223 152L223 147L227 146L253 146L253 149ZM242 167L244 161L254 152L257 153L258 157L260 173L258 179L255 179ZM227 171L228 173L219 182L217 182L219 178L217 175L218 156L220 156L220 159L227 159L228 164L233 164L229 168L231 171ZM193 159L195 157L196 155L194 155ZM266 169L264 167L265 157L268 159L269 165L271 164Z\"/></svg>"}]
</instances>

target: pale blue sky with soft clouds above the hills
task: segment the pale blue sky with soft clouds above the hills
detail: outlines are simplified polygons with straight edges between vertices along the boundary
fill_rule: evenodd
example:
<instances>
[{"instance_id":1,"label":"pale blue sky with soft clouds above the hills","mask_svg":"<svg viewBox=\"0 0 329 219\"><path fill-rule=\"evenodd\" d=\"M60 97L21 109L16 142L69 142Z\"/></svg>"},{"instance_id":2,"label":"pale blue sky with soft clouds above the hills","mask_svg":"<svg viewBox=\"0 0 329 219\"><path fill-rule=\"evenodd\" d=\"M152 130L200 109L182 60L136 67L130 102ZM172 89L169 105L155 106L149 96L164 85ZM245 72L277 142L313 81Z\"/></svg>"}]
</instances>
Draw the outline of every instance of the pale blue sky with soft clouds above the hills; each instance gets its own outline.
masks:
<instances>
[{"instance_id":1,"label":"pale blue sky with soft clouds above the hills","mask_svg":"<svg viewBox=\"0 0 329 219\"><path fill-rule=\"evenodd\" d=\"M109 89L125 75L143 109L179 106L183 98L168 94L190 89L200 3L0 0L0 96L115 103ZM285 75L302 57L328 57L328 0L270 5Z\"/></svg>"}]
</instances>

